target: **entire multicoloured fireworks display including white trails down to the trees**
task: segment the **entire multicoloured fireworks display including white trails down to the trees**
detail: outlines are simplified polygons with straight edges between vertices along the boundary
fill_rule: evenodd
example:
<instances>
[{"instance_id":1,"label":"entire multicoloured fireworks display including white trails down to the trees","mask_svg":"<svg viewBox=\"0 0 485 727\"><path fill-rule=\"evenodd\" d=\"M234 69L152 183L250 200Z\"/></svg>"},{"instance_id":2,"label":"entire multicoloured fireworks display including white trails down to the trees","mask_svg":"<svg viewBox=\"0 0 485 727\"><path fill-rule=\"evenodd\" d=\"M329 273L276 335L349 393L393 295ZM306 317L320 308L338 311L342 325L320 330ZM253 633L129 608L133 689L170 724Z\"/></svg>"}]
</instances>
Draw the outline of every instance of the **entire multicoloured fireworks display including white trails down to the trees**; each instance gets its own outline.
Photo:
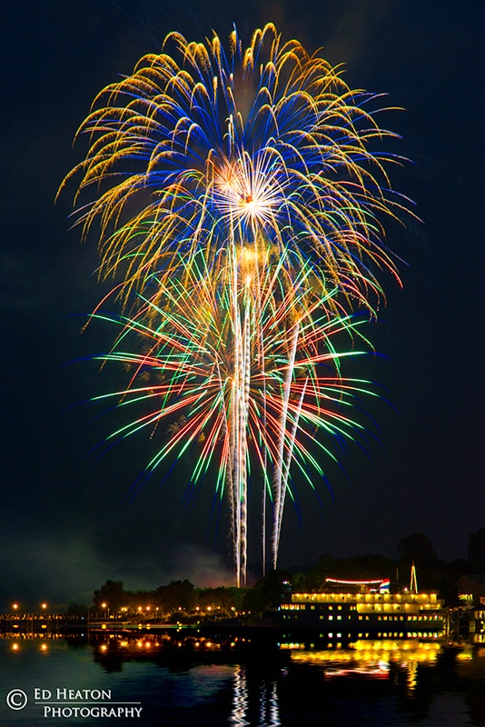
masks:
<instances>
[{"instance_id":1,"label":"entire multicoloured fireworks display including white trails down to the trees","mask_svg":"<svg viewBox=\"0 0 485 727\"><path fill-rule=\"evenodd\" d=\"M406 206L390 192L391 155L373 151L393 135L366 110L375 99L273 25L245 50L235 30L227 49L217 35L170 34L80 129L88 152L67 179L81 176L78 219L84 235L99 224L101 273L118 277L124 311L95 313L121 325L101 358L131 372L106 396L142 406L112 437L163 427L148 472L187 448L193 483L217 463L238 585L250 477L264 570L268 540L277 564L292 473L313 487L333 456L317 431L359 429L352 403L369 387L341 362L362 353L356 341L369 350L353 314L373 314L382 268L396 275L382 217Z\"/></svg>"}]
</instances>

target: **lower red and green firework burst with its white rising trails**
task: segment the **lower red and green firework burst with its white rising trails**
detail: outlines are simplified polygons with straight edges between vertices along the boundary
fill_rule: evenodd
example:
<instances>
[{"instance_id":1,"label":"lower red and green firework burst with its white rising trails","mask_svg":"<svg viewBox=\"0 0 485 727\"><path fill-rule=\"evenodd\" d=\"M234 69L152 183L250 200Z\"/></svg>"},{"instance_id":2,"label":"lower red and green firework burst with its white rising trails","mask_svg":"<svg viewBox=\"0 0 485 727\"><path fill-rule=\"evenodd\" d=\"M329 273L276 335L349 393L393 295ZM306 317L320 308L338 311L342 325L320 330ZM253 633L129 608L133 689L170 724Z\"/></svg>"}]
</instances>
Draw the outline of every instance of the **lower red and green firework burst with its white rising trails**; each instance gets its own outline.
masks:
<instances>
[{"instance_id":1,"label":"lower red and green firework burst with its white rising trails","mask_svg":"<svg viewBox=\"0 0 485 727\"><path fill-rule=\"evenodd\" d=\"M273 470L272 558L276 563L284 499L291 487L290 463L305 474L309 465L322 472L303 439L312 437L315 426L351 437L355 424L341 409L351 405L354 391L366 388L365 383L342 379L339 373L341 358L360 352L337 352L332 346L334 335L360 336L362 321L332 313L327 303L336 293L324 294L308 285L311 266L297 280L285 279L284 261L276 263L262 254L249 278L246 258L244 251L235 256L230 281L225 274L207 275L200 254L197 273L193 263L192 273L180 274L181 278L193 274L188 286L173 281L170 289L157 293L157 303L146 300L134 318L117 320L122 333L112 353L102 357L135 368L127 389L111 395L120 397L123 406L144 404L143 414L112 438L144 427L153 431L153 426L171 423L183 413L183 421L170 431L148 471L170 453L182 456L202 436L193 482L218 458L217 491L222 496L227 485L236 583L241 585L247 571L250 462L259 463L264 483L266 468ZM297 313L298 323L294 323ZM143 354L126 348L133 333L146 340ZM334 373L323 376L322 364L332 364ZM146 373L153 381L138 385ZM151 403L152 411L147 413Z\"/></svg>"}]
</instances>

